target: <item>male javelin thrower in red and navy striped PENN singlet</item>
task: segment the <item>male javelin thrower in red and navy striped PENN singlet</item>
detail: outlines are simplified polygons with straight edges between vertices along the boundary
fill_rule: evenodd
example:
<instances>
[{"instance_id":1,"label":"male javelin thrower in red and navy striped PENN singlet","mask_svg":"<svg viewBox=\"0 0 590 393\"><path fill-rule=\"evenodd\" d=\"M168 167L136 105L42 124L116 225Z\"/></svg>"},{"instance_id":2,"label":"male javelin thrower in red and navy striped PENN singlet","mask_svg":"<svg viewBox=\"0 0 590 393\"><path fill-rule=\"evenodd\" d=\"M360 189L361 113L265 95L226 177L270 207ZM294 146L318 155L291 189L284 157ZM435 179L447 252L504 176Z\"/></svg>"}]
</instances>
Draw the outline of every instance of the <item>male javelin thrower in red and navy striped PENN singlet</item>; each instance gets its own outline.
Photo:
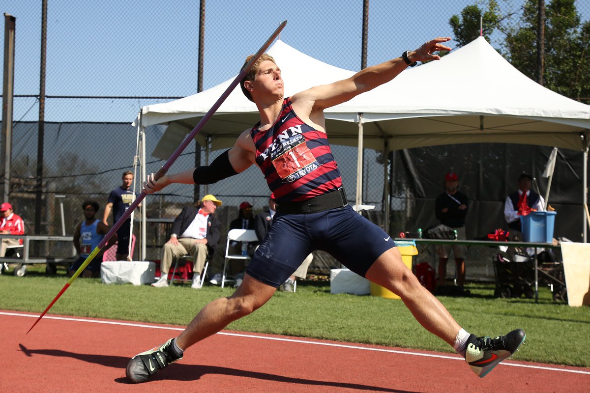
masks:
<instances>
[{"instance_id":1,"label":"male javelin thrower in red and navy striped PENN singlet","mask_svg":"<svg viewBox=\"0 0 590 393\"><path fill-rule=\"evenodd\" d=\"M202 308L178 337L130 359L126 369L130 381L147 381L182 359L190 346L263 306L313 250L330 253L353 272L399 295L417 321L453 346L479 377L519 348L525 340L522 329L496 338L478 338L462 329L420 285L402 262L391 237L348 205L328 143L324 109L391 81L417 61L440 60L434 52L450 51L443 44L449 40L432 39L415 51L365 68L348 79L287 98L283 97L281 70L265 54L240 83L246 97L257 105L260 122L245 130L234 146L209 166L158 180L153 174L148 176L144 191L155 193L171 183L215 183L255 163L276 197L278 211L235 293Z\"/></svg>"}]
</instances>

